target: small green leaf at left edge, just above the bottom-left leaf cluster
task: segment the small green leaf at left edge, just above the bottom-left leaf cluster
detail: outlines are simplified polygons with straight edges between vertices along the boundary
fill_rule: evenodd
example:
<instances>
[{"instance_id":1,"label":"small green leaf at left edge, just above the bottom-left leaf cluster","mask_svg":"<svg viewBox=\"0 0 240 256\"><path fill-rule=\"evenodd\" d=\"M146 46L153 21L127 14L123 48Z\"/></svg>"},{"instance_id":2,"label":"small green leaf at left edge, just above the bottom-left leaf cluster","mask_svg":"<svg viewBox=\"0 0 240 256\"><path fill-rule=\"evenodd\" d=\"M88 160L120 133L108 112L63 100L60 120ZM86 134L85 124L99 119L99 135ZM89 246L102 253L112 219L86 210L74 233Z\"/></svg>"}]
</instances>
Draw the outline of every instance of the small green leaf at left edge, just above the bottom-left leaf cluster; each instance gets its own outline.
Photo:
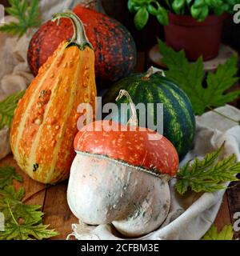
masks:
<instances>
[{"instance_id":1,"label":"small green leaf at left edge, just above the bottom-left leaf cluster","mask_svg":"<svg viewBox=\"0 0 240 256\"><path fill-rule=\"evenodd\" d=\"M13 182L13 179L22 182L22 177L16 174L14 167L0 166L0 189L10 185Z\"/></svg>"}]
</instances>

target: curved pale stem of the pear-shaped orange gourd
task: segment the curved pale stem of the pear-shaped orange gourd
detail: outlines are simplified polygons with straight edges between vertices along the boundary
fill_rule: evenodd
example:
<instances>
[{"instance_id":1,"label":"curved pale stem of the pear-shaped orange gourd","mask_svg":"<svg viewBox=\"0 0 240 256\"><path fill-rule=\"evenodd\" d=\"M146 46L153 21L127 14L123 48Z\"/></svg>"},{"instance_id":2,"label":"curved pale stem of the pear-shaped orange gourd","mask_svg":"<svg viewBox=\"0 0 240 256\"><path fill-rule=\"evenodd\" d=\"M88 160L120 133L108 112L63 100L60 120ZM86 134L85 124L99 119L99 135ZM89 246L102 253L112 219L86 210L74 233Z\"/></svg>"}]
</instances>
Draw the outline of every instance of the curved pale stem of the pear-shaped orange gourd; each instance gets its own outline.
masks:
<instances>
[{"instance_id":1,"label":"curved pale stem of the pear-shaped orange gourd","mask_svg":"<svg viewBox=\"0 0 240 256\"><path fill-rule=\"evenodd\" d=\"M58 20L58 24L60 18L70 18L71 22L74 25L74 35L70 40L70 43L75 43L79 46L80 50L84 50L86 46L89 46L93 49L93 46L90 44L88 38L86 37L85 29L82 24L82 21L76 14L74 14L71 10L66 10L64 13L57 13L53 15L52 22Z\"/></svg>"}]
</instances>

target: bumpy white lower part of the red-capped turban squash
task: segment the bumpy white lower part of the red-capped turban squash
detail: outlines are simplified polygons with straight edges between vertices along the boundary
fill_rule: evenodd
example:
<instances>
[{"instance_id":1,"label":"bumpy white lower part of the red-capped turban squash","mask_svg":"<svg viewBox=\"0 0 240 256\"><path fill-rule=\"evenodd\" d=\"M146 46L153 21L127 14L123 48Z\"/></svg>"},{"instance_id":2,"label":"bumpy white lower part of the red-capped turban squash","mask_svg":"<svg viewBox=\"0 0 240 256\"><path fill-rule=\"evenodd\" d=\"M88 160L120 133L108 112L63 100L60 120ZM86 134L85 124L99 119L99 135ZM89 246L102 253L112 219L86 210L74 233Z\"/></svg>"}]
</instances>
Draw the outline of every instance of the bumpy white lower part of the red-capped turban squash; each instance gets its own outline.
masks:
<instances>
[{"instance_id":1,"label":"bumpy white lower part of the red-capped turban squash","mask_svg":"<svg viewBox=\"0 0 240 256\"><path fill-rule=\"evenodd\" d=\"M67 190L70 209L91 225L113 223L136 237L162 224L170 209L166 176L108 158L78 153Z\"/></svg>"}]
</instances>

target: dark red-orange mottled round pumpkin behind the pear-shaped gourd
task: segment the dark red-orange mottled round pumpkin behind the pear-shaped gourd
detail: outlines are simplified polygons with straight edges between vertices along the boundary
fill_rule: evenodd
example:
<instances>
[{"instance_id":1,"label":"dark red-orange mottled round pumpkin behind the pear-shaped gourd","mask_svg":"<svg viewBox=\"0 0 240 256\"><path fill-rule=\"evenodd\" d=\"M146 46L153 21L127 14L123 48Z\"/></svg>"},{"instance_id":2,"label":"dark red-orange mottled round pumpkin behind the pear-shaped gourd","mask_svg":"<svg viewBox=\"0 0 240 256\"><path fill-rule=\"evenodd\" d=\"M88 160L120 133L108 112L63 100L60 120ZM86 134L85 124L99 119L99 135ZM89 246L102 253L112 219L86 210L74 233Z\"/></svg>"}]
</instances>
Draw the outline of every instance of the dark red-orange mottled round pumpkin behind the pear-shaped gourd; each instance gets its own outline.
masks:
<instances>
[{"instance_id":1,"label":"dark red-orange mottled round pumpkin behind the pear-shaped gourd","mask_svg":"<svg viewBox=\"0 0 240 256\"><path fill-rule=\"evenodd\" d=\"M126 77L134 70L136 64L136 47L134 39L122 24L113 18L76 6L74 13L81 18L89 41L95 51L95 74L97 81L109 86L109 82ZM46 59L53 54L59 43L73 35L70 20L63 18L56 22L46 22L34 34L28 50L28 62L33 74Z\"/></svg>"}]
</instances>

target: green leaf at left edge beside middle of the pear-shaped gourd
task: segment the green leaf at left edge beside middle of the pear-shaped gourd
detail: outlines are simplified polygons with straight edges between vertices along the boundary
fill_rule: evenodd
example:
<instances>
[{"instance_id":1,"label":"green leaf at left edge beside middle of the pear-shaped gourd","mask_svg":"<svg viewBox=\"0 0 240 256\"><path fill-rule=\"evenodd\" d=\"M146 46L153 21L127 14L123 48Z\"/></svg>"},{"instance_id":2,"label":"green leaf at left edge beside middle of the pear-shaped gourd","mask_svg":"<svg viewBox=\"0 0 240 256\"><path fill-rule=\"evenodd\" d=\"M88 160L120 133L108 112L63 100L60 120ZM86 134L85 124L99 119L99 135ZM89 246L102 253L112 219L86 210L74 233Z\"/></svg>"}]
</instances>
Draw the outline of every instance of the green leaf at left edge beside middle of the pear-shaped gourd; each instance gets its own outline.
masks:
<instances>
[{"instance_id":1,"label":"green leaf at left edge beside middle of the pear-shaped gourd","mask_svg":"<svg viewBox=\"0 0 240 256\"><path fill-rule=\"evenodd\" d=\"M18 106L18 101L22 98L23 94L25 94L25 90L12 94L0 102L0 129L3 126L10 128L14 118L14 110Z\"/></svg>"}]
</instances>

